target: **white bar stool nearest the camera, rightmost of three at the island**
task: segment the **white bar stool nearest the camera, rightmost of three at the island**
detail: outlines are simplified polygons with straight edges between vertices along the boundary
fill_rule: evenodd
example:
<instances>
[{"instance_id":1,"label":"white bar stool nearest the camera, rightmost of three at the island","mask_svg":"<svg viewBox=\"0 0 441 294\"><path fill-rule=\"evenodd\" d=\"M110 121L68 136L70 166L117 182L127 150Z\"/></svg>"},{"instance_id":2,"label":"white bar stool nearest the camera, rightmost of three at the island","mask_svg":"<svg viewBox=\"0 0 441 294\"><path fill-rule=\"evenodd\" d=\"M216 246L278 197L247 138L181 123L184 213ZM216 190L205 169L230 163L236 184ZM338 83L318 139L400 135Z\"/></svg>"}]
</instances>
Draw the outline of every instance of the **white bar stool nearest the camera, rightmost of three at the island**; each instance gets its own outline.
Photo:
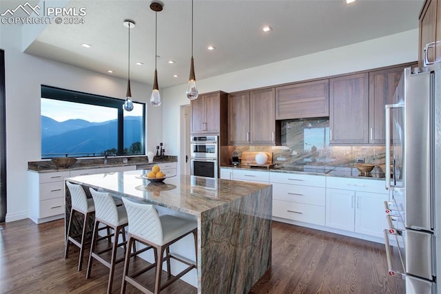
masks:
<instances>
[{"instance_id":1,"label":"white bar stool nearest the camera, rightmost of three at the island","mask_svg":"<svg viewBox=\"0 0 441 294\"><path fill-rule=\"evenodd\" d=\"M128 248L132 242L138 241L147 245L147 249L153 248L155 253L155 263L147 266L145 269L140 269L133 275L128 275L130 258L141 253L135 251L130 254L129 251L125 253L124 271L123 271L123 284L121 285L121 294L125 293L126 283L129 282L143 293L151 293L150 290L145 288L140 282L136 281L135 278L149 271L156 266L156 279L154 293L160 293L163 288L169 286L180 277L188 273L192 269L197 268L197 227L198 223L194 220L187 220L184 218L178 218L176 216L163 215L158 216L158 212L151 204L141 204L123 198L123 203L127 211L127 216L129 219L129 237L128 237ZM179 258L176 255L170 254L170 245L174 242L181 240L186 235L193 233L194 235L194 249L196 251L196 263ZM143 249L145 251L147 249ZM164 251L166 253L164 258ZM178 273L174 277L171 277L170 273L170 258L178 260L187 264L187 268ZM161 274L163 262L167 262L167 282L161 285Z\"/></svg>"}]
</instances>

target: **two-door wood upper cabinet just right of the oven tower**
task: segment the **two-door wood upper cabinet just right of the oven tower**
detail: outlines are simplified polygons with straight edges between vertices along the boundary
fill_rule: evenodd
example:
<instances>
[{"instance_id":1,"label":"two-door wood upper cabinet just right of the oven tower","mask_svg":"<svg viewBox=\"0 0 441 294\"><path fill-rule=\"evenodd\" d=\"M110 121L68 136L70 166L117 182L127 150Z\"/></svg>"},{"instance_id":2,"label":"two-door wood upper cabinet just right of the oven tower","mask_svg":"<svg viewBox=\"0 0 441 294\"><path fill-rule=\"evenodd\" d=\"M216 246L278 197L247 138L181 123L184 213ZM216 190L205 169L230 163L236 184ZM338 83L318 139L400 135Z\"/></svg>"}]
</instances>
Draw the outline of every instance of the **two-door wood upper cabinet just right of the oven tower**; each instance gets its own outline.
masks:
<instances>
[{"instance_id":1,"label":"two-door wood upper cabinet just right of the oven tower","mask_svg":"<svg viewBox=\"0 0 441 294\"><path fill-rule=\"evenodd\" d=\"M275 145L274 88L228 96L228 145Z\"/></svg>"}]
</instances>

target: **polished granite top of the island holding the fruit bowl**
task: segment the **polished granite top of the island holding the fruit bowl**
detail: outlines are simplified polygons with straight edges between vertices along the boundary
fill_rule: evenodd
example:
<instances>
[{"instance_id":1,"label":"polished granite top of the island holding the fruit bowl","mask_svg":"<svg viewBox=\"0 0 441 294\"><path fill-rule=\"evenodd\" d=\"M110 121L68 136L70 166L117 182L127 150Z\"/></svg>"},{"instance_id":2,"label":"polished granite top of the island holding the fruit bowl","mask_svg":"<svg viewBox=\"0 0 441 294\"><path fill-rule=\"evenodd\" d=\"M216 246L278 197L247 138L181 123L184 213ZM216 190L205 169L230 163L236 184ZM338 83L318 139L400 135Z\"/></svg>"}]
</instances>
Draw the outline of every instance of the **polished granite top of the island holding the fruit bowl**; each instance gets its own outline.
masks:
<instances>
[{"instance_id":1,"label":"polished granite top of the island holding the fruit bowl","mask_svg":"<svg viewBox=\"0 0 441 294\"><path fill-rule=\"evenodd\" d=\"M119 196L139 198L169 209L201 216L227 202L249 196L259 191L265 184L232 182L218 178L177 175L166 178L164 182L149 182L141 178L142 170L96 174L66 178L81 185L100 188Z\"/></svg>"}]
</instances>

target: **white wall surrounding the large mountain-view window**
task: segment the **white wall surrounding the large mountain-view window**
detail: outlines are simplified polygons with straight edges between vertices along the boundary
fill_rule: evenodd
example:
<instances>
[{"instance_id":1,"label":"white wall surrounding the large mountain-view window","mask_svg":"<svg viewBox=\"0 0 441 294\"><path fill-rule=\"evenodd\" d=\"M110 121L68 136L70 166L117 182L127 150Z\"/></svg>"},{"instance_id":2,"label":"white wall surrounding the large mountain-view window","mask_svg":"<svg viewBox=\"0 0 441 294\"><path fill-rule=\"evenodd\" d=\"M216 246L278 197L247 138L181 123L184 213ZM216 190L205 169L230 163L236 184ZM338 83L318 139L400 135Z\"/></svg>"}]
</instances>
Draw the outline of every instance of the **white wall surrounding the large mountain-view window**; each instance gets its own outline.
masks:
<instances>
[{"instance_id":1,"label":"white wall surrounding the large mountain-view window","mask_svg":"<svg viewBox=\"0 0 441 294\"><path fill-rule=\"evenodd\" d=\"M41 160L41 85L123 98L127 81L21 52L21 27L1 25L0 48L6 57L6 221L28 218L28 161ZM132 81L134 101L147 102L151 85ZM121 105L123 101L121 100ZM161 121L162 107L147 104L147 126ZM147 148L161 140L161 124L147 129ZM37 187L36 187L37 188Z\"/></svg>"}]
</instances>

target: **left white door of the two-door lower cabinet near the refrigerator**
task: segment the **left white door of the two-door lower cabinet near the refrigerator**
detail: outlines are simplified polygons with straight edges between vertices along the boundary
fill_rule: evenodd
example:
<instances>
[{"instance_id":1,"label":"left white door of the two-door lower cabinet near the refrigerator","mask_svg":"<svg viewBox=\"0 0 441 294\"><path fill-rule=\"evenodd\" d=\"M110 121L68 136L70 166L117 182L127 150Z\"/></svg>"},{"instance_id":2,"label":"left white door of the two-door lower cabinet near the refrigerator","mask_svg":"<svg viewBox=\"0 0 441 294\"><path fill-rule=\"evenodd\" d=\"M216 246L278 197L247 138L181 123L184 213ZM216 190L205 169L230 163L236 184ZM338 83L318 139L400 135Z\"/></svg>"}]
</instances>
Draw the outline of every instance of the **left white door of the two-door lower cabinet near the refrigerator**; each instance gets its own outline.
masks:
<instances>
[{"instance_id":1,"label":"left white door of the two-door lower cabinet near the refrigerator","mask_svg":"<svg viewBox=\"0 0 441 294\"><path fill-rule=\"evenodd\" d=\"M346 231L354 229L355 192L326 190L326 226Z\"/></svg>"}]
</instances>

